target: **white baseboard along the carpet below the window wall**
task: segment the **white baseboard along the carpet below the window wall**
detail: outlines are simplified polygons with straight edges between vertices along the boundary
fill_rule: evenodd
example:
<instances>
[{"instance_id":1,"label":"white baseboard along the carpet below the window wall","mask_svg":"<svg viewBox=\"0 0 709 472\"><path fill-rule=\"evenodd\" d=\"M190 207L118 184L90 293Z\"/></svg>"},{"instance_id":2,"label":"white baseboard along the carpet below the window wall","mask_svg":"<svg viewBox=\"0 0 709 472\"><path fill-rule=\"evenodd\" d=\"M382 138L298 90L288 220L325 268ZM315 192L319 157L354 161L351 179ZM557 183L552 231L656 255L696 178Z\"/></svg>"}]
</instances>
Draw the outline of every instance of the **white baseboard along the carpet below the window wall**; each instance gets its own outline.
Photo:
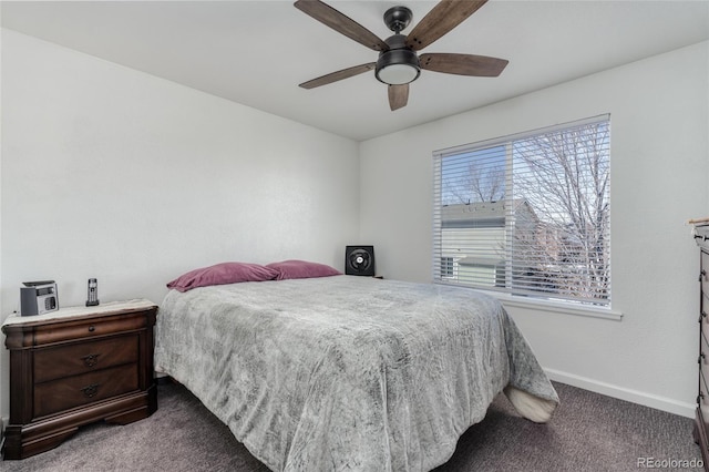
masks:
<instances>
[{"instance_id":1,"label":"white baseboard along the carpet below the window wall","mask_svg":"<svg viewBox=\"0 0 709 472\"><path fill-rule=\"evenodd\" d=\"M641 392L639 390L627 389L625 387L618 387L612 383L600 382L598 380L554 369L544 370L549 379L561 383L578 387L579 389L589 390L592 392L629 401L631 403L655 408L657 410L667 411L669 413L679 414L680 417L695 418L695 410L697 406L693 403L686 403L666 397Z\"/></svg>"}]
</instances>

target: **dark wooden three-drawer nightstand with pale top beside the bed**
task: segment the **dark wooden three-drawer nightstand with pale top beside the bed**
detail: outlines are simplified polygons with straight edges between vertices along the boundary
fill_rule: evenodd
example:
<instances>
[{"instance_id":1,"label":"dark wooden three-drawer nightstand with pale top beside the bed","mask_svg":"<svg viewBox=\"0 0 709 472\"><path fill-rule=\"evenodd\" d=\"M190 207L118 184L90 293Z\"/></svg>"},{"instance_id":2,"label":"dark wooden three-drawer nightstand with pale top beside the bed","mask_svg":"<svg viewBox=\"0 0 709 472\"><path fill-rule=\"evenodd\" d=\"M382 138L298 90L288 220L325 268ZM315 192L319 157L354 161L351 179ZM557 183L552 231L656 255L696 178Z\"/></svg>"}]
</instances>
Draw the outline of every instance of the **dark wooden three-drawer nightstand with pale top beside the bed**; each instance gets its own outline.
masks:
<instances>
[{"instance_id":1,"label":"dark wooden three-drawer nightstand with pale top beside the bed","mask_svg":"<svg viewBox=\"0 0 709 472\"><path fill-rule=\"evenodd\" d=\"M148 300L10 316L10 422L4 459L55 448L79 427L127 424L157 410Z\"/></svg>"}]
</instances>

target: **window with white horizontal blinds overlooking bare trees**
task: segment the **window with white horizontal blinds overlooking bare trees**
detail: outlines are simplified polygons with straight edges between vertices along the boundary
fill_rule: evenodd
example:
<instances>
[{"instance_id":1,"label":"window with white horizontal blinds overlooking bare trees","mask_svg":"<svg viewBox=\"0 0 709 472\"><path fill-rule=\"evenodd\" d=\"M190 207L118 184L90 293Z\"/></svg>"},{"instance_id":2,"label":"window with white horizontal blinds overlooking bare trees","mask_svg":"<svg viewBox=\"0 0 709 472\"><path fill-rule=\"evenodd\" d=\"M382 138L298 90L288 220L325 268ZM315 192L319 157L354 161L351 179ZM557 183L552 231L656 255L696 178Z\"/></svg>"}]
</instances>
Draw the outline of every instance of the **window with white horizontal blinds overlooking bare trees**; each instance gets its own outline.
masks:
<instances>
[{"instance_id":1,"label":"window with white horizontal blinds overlooking bare trees","mask_svg":"<svg viewBox=\"0 0 709 472\"><path fill-rule=\"evenodd\" d=\"M610 304L610 122L435 152L433 279Z\"/></svg>"}]
</instances>

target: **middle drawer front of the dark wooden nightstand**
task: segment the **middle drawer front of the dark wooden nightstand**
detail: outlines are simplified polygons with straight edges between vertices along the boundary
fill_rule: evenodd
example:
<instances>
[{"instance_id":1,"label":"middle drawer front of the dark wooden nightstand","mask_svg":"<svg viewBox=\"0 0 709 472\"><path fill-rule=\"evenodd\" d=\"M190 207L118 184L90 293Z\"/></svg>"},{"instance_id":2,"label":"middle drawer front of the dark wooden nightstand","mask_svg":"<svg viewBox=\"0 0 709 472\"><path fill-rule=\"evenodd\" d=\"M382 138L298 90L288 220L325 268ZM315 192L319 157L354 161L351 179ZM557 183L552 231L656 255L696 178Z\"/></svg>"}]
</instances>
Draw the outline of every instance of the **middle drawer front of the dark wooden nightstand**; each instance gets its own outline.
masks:
<instances>
[{"instance_id":1,"label":"middle drawer front of the dark wooden nightstand","mask_svg":"<svg viewBox=\"0 0 709 472\"><path fill-rule=\"evenodd\" d=\"M137 359L137 335L41 349L34 355L34 382L136 362Z\"/></svg>"}]
</instances>

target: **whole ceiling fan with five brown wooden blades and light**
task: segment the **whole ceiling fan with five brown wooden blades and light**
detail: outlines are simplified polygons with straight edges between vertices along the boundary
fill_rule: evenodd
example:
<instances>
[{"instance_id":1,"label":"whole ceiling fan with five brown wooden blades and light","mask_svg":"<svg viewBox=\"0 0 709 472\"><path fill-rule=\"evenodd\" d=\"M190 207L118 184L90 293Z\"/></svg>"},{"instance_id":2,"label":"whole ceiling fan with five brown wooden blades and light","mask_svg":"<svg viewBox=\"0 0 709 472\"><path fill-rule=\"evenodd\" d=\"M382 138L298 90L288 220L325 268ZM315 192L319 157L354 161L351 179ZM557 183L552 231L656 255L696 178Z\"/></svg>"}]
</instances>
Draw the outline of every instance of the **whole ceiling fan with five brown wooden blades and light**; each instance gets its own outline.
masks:
<instances>
[{"instance_id":1,"label":"whole ceiling fan with five brown wooden blades and light","mask_svg":"<svg viewBox=\"0 0 709 472\"><path fill-rule=\"evenodd\" d=\"M417 54L417 51L458 27L486 2L487 0L441 0L409 34L402 34L401 31L411 22L411 10L407 7L390 8L384 13L384 23L394 34L381 40L320 0L298 0L295 2L297 9L367 48L379 51L377 62L332 72L304 82L300 86L315 89L374 70L377 79L389 85L389 106L394 111L407 105L409 83L419 78L421 69L458 75L497 76L508 61L473 54Z\"/></svg>"}]
</instances>

